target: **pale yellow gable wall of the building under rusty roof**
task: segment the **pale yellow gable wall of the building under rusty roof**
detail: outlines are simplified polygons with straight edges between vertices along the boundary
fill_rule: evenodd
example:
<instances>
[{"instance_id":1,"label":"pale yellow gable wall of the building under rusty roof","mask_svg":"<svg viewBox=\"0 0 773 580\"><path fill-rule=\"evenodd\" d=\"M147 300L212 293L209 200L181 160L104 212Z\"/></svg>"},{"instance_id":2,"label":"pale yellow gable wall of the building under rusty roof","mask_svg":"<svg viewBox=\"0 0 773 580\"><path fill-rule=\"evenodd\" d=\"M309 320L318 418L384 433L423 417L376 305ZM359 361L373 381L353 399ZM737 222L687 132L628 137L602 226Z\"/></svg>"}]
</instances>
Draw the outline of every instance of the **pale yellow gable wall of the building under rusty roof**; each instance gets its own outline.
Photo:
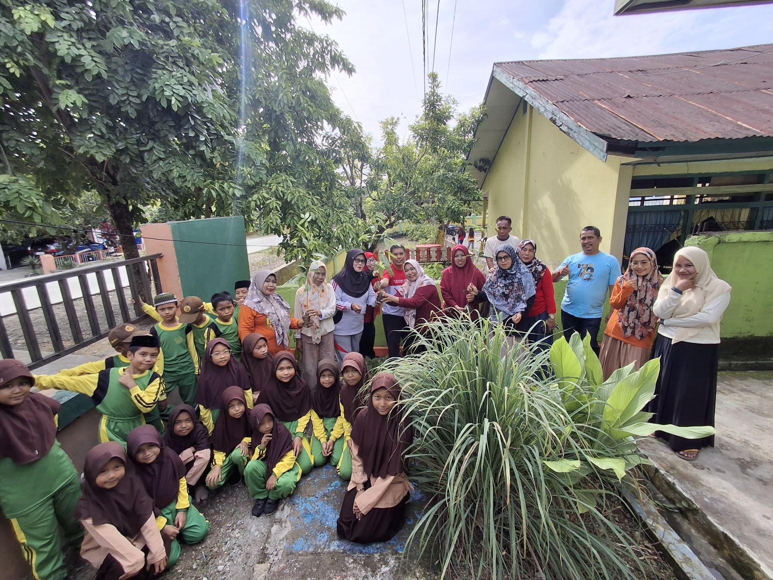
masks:
<instances>
[{"instance_id":1,"label":"pale yellow gable wall of the building under rusty roof","mask_svg":"<svg viewBox=\"0 0 773 580\"><path fill-rule=\"evenodd\" d=\"M591 155L542 114L519 109L489 169L488 233L499 215L512 217L512 233L531 237L540 259L554 268L580 251L580 230L601 229L601 250L621 257L632 167L610 155Z\"/></svg>"}]
</instances>

